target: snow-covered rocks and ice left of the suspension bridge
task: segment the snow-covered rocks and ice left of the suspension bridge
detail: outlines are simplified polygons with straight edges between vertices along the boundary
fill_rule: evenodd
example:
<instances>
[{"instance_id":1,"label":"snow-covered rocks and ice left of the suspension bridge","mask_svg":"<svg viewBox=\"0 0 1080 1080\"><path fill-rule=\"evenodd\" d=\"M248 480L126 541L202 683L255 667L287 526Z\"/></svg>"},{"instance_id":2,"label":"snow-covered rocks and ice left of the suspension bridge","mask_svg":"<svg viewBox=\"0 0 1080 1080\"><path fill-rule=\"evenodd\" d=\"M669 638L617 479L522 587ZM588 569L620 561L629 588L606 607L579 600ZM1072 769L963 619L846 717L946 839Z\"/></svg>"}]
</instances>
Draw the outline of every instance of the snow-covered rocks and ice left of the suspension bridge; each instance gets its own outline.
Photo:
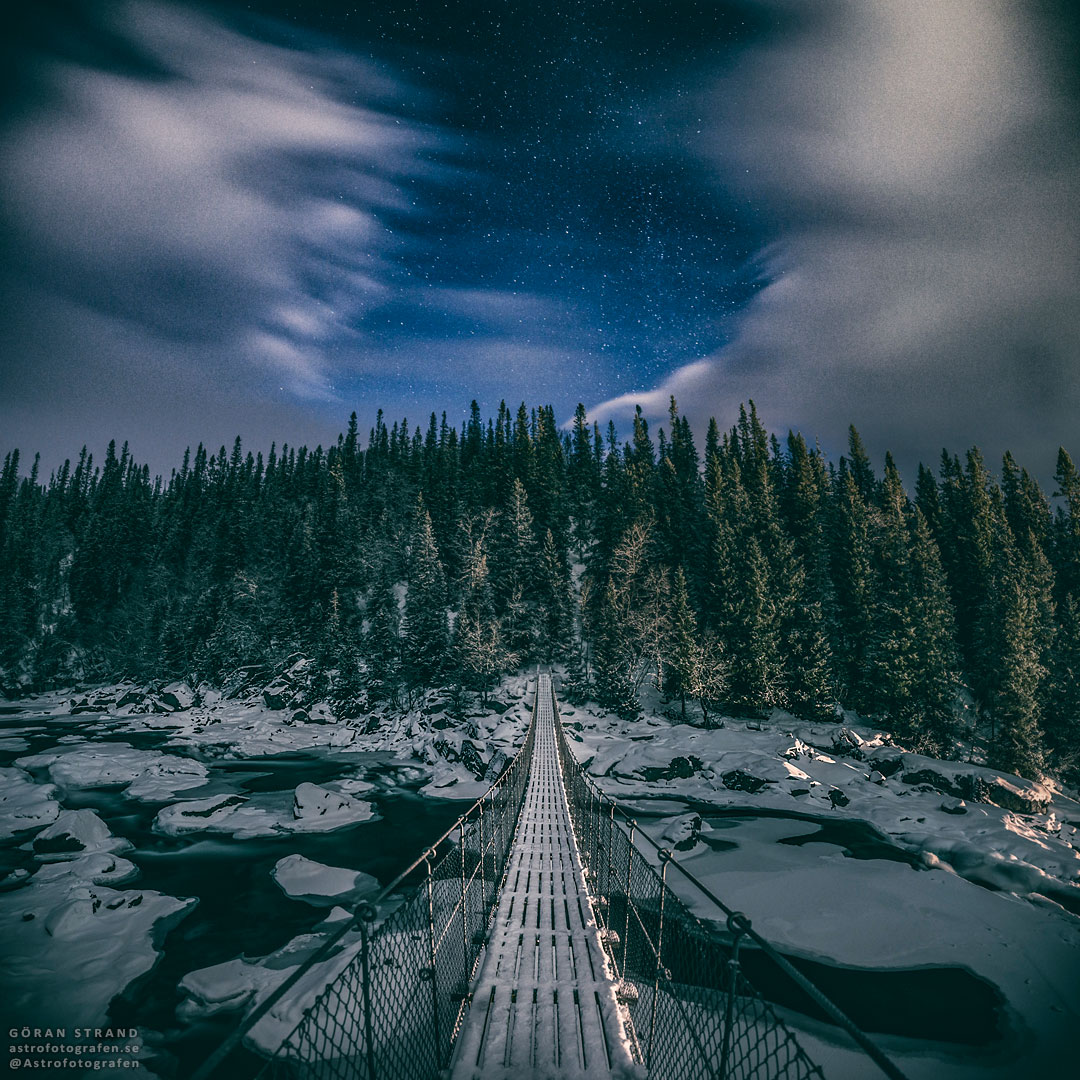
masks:
<instances>
[{"instance_id":1,"label":"snow-covered rocks and ice left of the suspension bridge","mask_svg":"<svg viewBox=\"0 0 1080 1080\"><path fill-rule=\"evenodd\" d=\"M153 831L167 838L334 833L376 820L368 767L377 767L382 792L400 785L431 798L477 797L513 754L529 716L525 677L508 679L491 710L473 708L460 725L435 694L404 714L336 721L325 706L295 707L301 681L286 673L272 688L238 697L197 694L184 684L152 691L125 684L22 701L5 714L0 753L11 764L0 768L0 843L8 866L19 864L6 876L0 869L0 1013L8 1027L105 1025L113 998L154 967L168 930L198 903L137 889L138 867L123 858L129 841L94 810L66 808L68 800L113 791L133 805L160 806ZM49 739L50 723L67 733ZM235 773L219 769L297 755L336 762L338 774L245 794L229 779ZM402 861L411 854L403 851ZM269 888L324 908L354 904L378 888L368 875L298 854L280 860L272 879ZM343 914L335 907L325 930ZM323 937L315 932L262 960L191 972L178 1020L243 1008ZM145 1065L152 1071L152 1061Z\"/></svg>"}]
</instances>

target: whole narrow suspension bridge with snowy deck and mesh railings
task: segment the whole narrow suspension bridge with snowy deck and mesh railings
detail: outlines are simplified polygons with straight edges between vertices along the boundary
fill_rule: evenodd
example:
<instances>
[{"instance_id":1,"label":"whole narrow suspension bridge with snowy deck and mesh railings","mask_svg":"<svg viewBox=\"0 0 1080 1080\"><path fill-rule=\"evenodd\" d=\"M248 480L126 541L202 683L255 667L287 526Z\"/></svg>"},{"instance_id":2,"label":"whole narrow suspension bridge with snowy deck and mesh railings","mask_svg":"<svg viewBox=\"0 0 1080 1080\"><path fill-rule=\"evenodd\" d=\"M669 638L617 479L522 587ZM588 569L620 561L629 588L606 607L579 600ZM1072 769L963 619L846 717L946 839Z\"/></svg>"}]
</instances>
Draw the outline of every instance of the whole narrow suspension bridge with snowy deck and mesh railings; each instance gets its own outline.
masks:
<instances>
[{"instance_id":1,"label":"whole narrow suspension bridge with snowy deck and mesh railings","mask_svg":"<svg viewBox=\"0 0 1080 1080\"><path fill-rule=\"evenodd\" d=\"M724 931L690 913L673 873L715 906ZM379 922L382 901L409 886ZM595 786L570 753L551 676L538 673L532 720L509 768L249 1013L195 1080L225 1076L254 1025L327 967L332 976L260 1076L823 1080L745 977L750 948L903 1080L744 915ZM343 967L328 963L335 957Z\"/></svg>"}]
</instances>

